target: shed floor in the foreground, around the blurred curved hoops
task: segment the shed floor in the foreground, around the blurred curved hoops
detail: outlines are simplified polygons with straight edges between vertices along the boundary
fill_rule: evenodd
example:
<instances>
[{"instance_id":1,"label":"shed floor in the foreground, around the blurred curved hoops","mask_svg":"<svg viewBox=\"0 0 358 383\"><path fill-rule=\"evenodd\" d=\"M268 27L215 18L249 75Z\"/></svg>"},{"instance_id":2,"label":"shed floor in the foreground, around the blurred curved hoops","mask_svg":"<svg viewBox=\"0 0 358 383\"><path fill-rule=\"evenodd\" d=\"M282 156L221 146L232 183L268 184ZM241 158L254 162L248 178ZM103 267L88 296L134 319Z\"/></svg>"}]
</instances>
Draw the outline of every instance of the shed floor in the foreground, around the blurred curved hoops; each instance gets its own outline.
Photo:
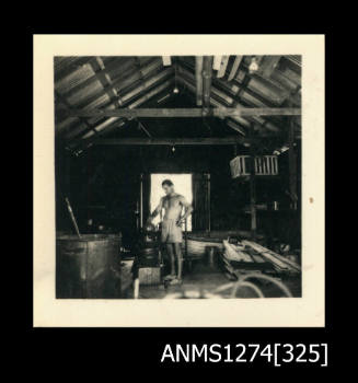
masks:
<instances>
[{"instance_id":1,"label":"shed floor in the foreground, around the blurred curved hoops","mask_svg":"<svg viewBox=\"0 0 358 383\"><path fill-rule=\"evenodd\" d=\"M291 291L293 297L301 297L301 279L300 278L285 278L278 279ZM284 293L272 282L261 281L258 279L252 279L264 293L265 298L280 298ZM140 299L197 299L197 298L230 298L232 287L226 289L220 293L216 293L215 290L221 286L228 285L231 281L226 277L224 272L218 268L212 269L200 262L194 263L190 270L185 270L183 275L182 286L140 286L139 298ZM126 298L132 298L132 288L126 292ZM247 287L242 287L236 292L236 298L257 298L257 294Z\"/></svg>"}]
</instances>

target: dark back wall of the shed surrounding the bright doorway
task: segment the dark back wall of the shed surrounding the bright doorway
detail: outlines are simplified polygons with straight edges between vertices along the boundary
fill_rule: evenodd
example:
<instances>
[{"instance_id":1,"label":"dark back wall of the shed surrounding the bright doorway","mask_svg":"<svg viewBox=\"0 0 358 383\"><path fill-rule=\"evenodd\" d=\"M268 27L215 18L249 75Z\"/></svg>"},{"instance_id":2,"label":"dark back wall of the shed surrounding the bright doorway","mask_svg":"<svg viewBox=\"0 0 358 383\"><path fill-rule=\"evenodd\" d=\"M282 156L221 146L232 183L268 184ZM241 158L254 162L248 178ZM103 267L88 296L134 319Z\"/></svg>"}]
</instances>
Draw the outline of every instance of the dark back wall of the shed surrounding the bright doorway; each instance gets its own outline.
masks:
<instances>
[{"instance_id":1,"label":"dark back wall of the shed surrounding the bright doorway","mask_svg":"<svg viewBox=\"0 0 358 383\"><path fill-rule=\"evenodd\" d=\"M57 153L57 228L71 230L62 197L67 195L85 230L88 218L128 237L135 235L138 220L140 174L193 173L210 174L211 230L250 229L250 216L242 209L250 204L247 181L232 179L229 162L233 147L92 147L80 156ZM247 154L238 148L238 154ZM287 205L288 159L279 156L279 176L256 178L257 202L281 201ZM300 160L299 160L300 161ZM147 178L148 179L148 178ZM207 194L201 183L203 194ZM200 189L199 188L199 189ZM145 216L148 216L149 185L145 183ZM205 229L205 201L198 204L196 229ZM195 214L194 214L195 216ZM201 221L200 221L201 220Z\"/></svg>"}]
</instances>

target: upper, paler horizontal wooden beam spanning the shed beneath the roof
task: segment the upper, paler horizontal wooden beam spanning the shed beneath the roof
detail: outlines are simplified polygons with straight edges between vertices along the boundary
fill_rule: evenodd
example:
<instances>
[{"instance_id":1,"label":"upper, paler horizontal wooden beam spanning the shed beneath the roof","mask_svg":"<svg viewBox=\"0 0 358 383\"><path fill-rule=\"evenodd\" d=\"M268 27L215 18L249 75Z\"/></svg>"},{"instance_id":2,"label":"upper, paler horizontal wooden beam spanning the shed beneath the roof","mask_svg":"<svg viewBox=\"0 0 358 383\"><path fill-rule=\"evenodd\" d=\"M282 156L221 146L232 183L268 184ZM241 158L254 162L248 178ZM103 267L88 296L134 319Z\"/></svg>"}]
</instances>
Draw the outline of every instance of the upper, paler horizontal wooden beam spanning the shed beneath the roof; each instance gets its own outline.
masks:
<instances>
[{"instance_id":1,"label":"upper, paler horizontal wooden beam spanning the shed beneath the roof","mask_svg":"<svg viewBox=\"0 0 358 383\"><path fill-rule=\"evenodd\" d=\"M213 107L201 108L118 108L118 109L70 109L70 117L242 117L242 116L299 116L301 108L293 107Z\"/></svg>"}]
</instances>

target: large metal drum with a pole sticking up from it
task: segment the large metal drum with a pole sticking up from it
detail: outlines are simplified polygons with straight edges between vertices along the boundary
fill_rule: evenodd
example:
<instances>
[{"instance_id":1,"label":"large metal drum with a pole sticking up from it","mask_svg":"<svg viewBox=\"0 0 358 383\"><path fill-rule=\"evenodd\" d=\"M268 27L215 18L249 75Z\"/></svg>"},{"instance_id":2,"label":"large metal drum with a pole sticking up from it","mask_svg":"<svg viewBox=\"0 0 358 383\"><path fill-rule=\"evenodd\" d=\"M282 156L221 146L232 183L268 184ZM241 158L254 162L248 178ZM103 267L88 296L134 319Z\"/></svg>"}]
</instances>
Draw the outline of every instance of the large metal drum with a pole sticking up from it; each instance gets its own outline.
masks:
<instances>
[{"instance_id":1,"label":"large metal drum with a pole sticking up from it","mask_svg":"<svg viewBox=\"0 0 358 383\"><path fill-rule=\"evenodd\" d=\"M120 236L60 235L56 240L56 298L118 298Z\"/></svg>"}]
</instances>

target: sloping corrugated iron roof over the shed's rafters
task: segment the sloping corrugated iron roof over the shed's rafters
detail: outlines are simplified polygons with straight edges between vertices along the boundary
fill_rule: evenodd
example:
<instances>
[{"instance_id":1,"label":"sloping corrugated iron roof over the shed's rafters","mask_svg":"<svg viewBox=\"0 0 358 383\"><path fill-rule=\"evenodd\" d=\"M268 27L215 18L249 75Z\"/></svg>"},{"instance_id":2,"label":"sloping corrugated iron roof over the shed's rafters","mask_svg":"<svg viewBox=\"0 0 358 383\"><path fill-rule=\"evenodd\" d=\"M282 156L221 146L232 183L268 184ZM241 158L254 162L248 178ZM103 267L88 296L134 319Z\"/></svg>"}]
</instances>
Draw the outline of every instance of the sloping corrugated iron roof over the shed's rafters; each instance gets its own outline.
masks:
<instances>
[{"instance_id":1,"label":"sloping corrugated iron roof over the shed's rafters","mask_svg":"<svg viewBox=\"0 0 358 383\"><path fill-rule=\"evenodd\" d=\"M284 106L288 101L296 107L301 106L300 56L261 56L257 62L265 70L254 74L249 73L251 59L243 56L236 72L231 73L235 57L230 56L222 77L218 78L213 71L210 96L213 107L275 107ZM56 134L69 144L95 132L107 134L123 126L126 119L67 117L63 109L135 108L160 96L164 103L173 97L174 85L181 85L182 93L189 94L193 100L196 94L195 57L172 57L170 66L163 66L161 57L55 57L54 69ZM244 131L252 121L261 125L262 130L275 134L284 132L286 124L285 118L278 116L226 120L231 129L233 126L239 128L235 134L240 134L240 129Z\"/></svg>"}]
</instances>

